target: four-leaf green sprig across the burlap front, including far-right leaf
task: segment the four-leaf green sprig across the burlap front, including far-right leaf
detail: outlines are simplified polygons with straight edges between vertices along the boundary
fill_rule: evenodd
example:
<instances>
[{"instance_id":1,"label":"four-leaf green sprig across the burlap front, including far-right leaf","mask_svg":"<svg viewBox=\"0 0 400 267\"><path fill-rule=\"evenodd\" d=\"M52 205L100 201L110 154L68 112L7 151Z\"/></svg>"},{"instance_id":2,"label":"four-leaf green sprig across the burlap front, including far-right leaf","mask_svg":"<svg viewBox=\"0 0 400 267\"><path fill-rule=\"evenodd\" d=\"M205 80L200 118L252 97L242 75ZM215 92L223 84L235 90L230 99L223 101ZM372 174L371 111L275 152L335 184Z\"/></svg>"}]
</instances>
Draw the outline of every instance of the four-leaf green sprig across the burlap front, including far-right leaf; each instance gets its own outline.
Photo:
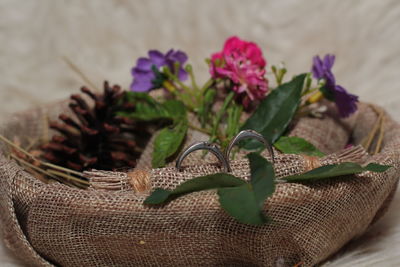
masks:
<instances>
[{"instance_id":1,"label":"four-leaf green sprig across the burlap front, including far-right leaf","mask_svg":"<svg viewBox=\"0 0 400 267\"><path fill-rule=\"evenodd\" d=\"M250 182L227 173L200 176L183 182L174 190L156 188L146 198L144 204L167 204L193 192L216 189L222 209L238 222L250 225L263 225L270 222L271 218L265 214L265 200L273 195L276 188L277 180L273 165L257 153L250 153L248 159L251 173ZM302 174L282 177L279 181L307 183L365 171L385 172L390 167L376 163L370 163L363 167L356 163L344 162L322 166Z\"/></svg>"}]
</instances>

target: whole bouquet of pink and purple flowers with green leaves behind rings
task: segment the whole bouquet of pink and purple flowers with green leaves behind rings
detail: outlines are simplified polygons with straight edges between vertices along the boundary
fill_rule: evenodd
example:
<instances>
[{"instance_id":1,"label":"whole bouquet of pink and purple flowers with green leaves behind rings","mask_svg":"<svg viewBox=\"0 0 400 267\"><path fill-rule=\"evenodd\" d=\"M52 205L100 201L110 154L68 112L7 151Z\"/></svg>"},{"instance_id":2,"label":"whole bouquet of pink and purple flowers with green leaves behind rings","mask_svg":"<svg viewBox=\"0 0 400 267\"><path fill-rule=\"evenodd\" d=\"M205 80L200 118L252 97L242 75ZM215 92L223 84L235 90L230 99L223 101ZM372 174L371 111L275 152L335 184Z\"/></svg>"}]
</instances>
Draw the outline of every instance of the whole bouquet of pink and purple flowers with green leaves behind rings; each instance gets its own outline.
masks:
<instances>
[{"instance_id":1,"label":"whole bouquet of pink and purple flowers with green leaves behind rings","mask_svg":"<svg viewBox=\"0 0 400 267\"><path fill-rule=\"evenodd\" d=\"M169 122L156 137L154 167L164 166L174 158L189 129L208 135L210 142L222 148L240 130L252 129L285 152L286 145L282 142L293 140L281 137L290 121L297 116L323 116L323 99L333 101L342 118L357 110L358 97L336 82L332 72L335 56L331 54L323 58L315 56L311 72L289 81L285 80L284 65L273 65L270 70L274 82L266 76L267 60L261 48L236 36L228 38L223 48L206 61L210 78L201 86L187 54L181 50L170 49L166 53L150 50L132 68L128 101L134 102L135 108L121 115ZM153 93L160 89L162 94ZM189 114L194 115L190 120ZM260 149L259 143L251 141L240 146ZM321 155L313 149L315 155Z\"/></svg>"}]
</instances>

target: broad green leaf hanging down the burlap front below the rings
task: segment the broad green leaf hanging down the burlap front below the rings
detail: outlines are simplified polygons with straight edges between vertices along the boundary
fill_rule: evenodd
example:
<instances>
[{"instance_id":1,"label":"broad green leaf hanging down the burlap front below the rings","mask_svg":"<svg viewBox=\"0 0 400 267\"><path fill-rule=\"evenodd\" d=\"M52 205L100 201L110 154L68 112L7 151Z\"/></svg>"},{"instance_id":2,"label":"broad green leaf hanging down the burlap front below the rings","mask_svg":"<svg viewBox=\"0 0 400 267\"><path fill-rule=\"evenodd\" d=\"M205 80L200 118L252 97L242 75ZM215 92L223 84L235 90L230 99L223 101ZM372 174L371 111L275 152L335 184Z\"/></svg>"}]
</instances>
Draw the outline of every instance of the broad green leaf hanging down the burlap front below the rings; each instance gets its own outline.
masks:
<instances>
[{"instance_id":1,"label":"broad green leaf hanging down the burlap front below the rings","mask_svg":"<svg viewBox=\"0 0 400 267\"><path fill-rule=\"evenodd\" d=\"M218 189L221 207L237 221L262 225L268 218L262 213L251 184Z\"/></svg>"}]
</instances>

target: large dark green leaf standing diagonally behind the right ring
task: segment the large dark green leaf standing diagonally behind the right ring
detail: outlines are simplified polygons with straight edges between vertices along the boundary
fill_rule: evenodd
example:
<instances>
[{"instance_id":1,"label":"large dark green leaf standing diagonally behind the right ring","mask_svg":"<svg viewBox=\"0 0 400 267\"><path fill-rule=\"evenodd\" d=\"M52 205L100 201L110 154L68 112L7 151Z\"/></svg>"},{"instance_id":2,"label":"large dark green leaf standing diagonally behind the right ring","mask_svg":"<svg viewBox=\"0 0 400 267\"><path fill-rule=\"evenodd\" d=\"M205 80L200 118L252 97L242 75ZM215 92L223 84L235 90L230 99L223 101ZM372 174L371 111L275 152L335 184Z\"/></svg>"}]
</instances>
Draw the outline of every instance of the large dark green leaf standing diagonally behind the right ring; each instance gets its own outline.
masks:
<instances>
[{"instance_id":1,"label":"large dark green leaf standing diagonally behind the right ring","mask_svg":"<svg viewBox=\"0 0 400 267\"><path fill-rule=\"evenodd\" d=\"M296 113L305 77L306 74L298 75L273 90L259 104L241 130L255 130L273 144L284 133ZM246 149L258 149L260 143L253 139L245 140L242 146Z\"/></svg>"}]
</instances>

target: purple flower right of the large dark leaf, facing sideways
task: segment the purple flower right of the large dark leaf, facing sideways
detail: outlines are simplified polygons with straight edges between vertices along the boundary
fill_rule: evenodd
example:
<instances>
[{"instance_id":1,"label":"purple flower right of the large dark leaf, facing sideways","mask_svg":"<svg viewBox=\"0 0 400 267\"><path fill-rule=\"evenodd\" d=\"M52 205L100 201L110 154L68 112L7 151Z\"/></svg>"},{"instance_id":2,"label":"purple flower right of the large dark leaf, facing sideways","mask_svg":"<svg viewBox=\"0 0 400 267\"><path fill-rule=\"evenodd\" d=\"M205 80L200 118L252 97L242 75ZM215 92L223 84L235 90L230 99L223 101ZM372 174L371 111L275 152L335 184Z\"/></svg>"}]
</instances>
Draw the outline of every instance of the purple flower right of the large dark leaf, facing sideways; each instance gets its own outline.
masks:
<instances>
[{"instance_id":1,"label":"purple flower right of the large dark leaf, facing sideways","mask_svg":"<svg viewBox=\"0 0 400 267\"><path fill-rule=\"evenodd\" d=\"M325 55L322 60L319 56L313 58L312 73L314 78L325 80L325 86L321 88L322 93L329 100L335 101L341 117L345 118L357 110L358 96L349 94L346 89L336 84L332 67L335 63L334 55Z\"/></svg>"}]
</instances>

